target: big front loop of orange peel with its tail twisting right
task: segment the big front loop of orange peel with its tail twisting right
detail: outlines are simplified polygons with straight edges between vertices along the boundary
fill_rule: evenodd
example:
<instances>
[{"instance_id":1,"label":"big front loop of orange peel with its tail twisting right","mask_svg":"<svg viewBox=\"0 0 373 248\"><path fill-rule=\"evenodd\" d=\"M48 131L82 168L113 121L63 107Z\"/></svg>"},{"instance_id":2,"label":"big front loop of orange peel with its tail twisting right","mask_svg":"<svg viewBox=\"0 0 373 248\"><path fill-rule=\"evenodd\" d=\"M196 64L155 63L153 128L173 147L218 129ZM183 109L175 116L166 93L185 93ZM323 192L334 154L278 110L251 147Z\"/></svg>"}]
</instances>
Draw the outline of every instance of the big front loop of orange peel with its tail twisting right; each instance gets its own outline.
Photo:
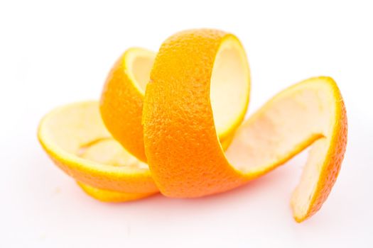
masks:
<instances>
[{"instance_id":1,"label":"big front loop of orange peel with its tail twisting right","mask_svg":"<svg viewBox=\"0 0 373 248\"><path fill-rule=\"evenodd\" d=\"M347 140L342 96L329 77L291 86L238 128L225 153L216 120L227 112L214 104L227 105L244 91L243 53L234 35L217 30L188 30L163 43L143 108L151 174L165 196L207 196L246 184L312 145L291 198L294 218L305 220L325 201L340 170ZM221 84L236 89L213 99Z\"/></svg>"}]
</instances>

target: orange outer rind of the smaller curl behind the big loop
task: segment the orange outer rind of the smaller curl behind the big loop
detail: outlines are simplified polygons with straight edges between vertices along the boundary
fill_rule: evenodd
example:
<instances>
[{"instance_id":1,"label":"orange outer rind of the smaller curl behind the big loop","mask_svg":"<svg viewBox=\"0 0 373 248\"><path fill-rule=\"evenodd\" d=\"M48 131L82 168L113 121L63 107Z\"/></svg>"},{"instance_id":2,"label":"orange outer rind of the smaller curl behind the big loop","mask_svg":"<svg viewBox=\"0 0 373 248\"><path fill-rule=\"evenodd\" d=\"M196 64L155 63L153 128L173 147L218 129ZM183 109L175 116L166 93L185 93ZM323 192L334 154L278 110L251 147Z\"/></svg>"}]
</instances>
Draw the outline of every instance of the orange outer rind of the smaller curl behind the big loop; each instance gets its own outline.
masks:
<instances>
[{"instance_id":1,"label":"orange outer rind of the smaller curl behind the big loop","mask_svg":"<svg viewBox=\"0 0 373 248\"><path fill-rule=\"evenodd\" d=\"M141 125L144 94L126 73L124 54L114 64L101 95L100 111L107 130L131 154L146 162Z\"/></svg>"}]
</instances>

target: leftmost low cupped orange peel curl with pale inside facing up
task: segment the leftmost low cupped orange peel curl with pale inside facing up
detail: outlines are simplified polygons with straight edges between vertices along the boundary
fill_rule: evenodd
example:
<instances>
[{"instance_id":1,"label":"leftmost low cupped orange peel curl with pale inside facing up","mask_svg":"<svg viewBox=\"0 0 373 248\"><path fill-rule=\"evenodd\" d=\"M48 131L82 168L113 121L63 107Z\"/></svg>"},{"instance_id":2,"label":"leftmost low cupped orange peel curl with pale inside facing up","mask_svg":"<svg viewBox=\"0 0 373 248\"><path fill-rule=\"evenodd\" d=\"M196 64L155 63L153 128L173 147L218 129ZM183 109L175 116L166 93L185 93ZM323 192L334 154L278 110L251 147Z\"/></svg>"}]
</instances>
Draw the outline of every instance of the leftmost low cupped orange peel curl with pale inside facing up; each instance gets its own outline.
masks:
<instances>
[{"instance_id":1,"label":"leftmost low cupped orange peel curl with pale inside facing up","mask_svg":"<svg viewBox=\"0 0 373 248\"><path fill-rule=\"evenodd\" d=\"M158 192L147 164L126 152L104 127L98 101L55 108L40 121L38 139L53 162L90 196L105 201L113 197L103 196L103 191L116 191L116 199Z\"/></svg>"}]
</instances>

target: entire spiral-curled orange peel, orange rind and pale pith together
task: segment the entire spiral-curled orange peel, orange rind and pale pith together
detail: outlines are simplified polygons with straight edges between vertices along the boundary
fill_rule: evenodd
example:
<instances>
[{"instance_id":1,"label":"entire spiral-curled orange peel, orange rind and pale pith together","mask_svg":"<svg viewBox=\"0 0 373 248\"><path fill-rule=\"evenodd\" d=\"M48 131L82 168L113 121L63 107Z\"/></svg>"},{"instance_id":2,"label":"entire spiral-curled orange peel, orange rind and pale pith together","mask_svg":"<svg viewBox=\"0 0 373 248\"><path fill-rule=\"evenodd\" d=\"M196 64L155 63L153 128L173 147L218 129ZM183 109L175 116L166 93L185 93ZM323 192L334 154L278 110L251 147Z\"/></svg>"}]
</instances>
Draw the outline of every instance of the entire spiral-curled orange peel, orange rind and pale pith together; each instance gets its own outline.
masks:
<instances>
[{"instance_id":1,"label":"entire spiral-curled orange peel, orange rind and pale pith together","mask_svg":"<svg viewBox=\"0 0 373 248\"><path fill-rule=\"evenodd\" d=\"M41 121L38 137L83 190L113 202L158 190L177 198L229 191L310 146L291 198L295 220L306 220L328 197L345 154L347 117L337 84L330 77L301 81L243 122L249 88L247 58L234 35L187 30L157 54L124 52L100 106L56 109Z\"/></svg>"}]
</instances>

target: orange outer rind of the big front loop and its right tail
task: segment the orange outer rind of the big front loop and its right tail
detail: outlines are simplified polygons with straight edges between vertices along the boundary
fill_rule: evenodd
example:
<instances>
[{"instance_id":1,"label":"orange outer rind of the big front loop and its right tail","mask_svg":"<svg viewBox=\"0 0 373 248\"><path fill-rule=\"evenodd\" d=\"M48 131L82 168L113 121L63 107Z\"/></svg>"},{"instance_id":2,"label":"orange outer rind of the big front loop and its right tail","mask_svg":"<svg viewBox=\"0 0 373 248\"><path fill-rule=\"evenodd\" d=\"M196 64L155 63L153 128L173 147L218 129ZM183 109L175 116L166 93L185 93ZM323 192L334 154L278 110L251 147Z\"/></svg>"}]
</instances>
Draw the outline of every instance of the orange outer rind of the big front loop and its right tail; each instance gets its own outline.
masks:
<instances>
[{"instance_id":1,"label":"orange outer rind of the big front loop and its right tail","mask_svg":"<svg viewBox=\"0 0 373 248\"><path fill-rule=\"evenodd\" d=\"M322 137L310 133L296 150L263 171L243 174L229 164L217 140L210 106L215 55L228 36L232 37L218 30L187 30L168 38L156 57L145 94L144 145L153 179L166 196L190 198L228 191L278 167ZM313 215L328 197L345 153L345 107L333 79L328 83L337 101L339 123L308 213L295 216L297 221Z\"/></svg>"}]
</instances>

